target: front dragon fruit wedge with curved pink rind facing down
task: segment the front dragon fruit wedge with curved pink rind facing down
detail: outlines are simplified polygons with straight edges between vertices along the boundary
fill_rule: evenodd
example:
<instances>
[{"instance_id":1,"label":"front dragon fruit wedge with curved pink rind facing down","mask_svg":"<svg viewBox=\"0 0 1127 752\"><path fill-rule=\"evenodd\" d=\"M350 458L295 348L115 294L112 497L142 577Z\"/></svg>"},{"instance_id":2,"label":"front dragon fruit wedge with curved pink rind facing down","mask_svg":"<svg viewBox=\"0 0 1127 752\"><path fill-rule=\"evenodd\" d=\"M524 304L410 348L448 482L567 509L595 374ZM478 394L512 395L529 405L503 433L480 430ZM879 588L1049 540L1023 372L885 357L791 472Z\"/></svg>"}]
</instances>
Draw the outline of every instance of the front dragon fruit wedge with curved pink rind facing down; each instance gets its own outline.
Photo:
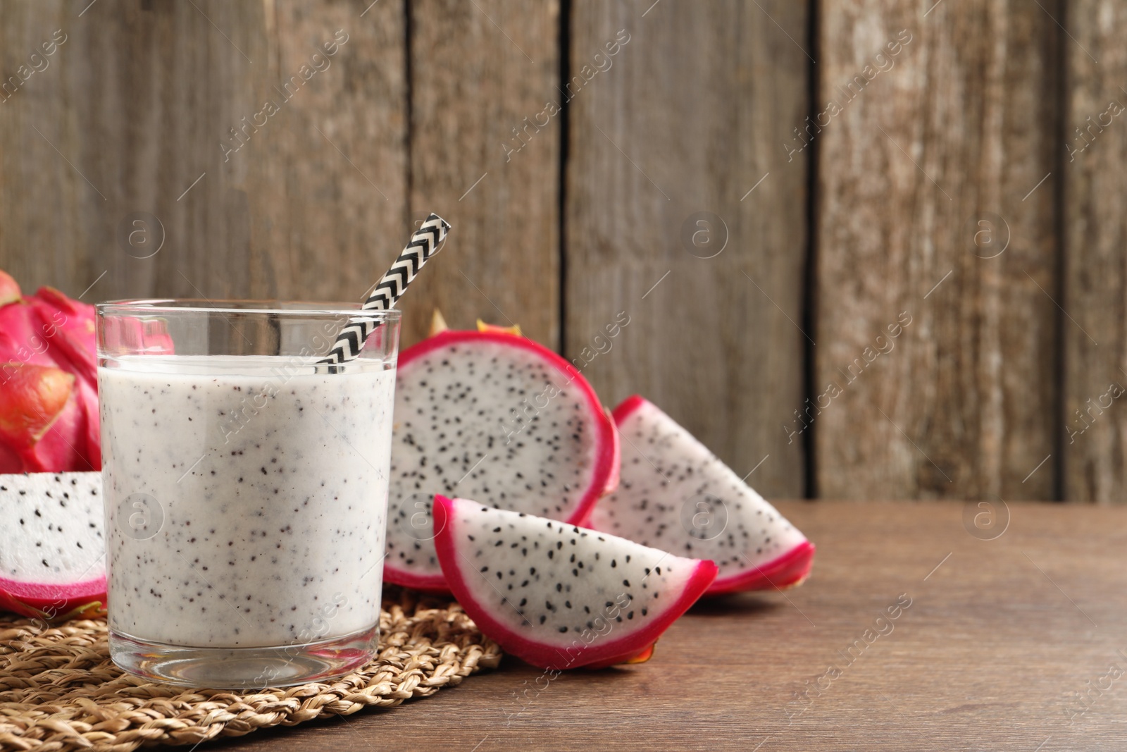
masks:
<instances>
[{"instance_id":1,"label":"front dragon fruit wedge with curved pink rind facing down","mask_svg":"<svg viewBox=\"0 0 1127 752\"><path fill-rule=\"evenodd\" d=\"M435 547L458 602L505 651L560 671L638 663L716 564L531 514L435 496Z\"/></svg>"}]
</instances>

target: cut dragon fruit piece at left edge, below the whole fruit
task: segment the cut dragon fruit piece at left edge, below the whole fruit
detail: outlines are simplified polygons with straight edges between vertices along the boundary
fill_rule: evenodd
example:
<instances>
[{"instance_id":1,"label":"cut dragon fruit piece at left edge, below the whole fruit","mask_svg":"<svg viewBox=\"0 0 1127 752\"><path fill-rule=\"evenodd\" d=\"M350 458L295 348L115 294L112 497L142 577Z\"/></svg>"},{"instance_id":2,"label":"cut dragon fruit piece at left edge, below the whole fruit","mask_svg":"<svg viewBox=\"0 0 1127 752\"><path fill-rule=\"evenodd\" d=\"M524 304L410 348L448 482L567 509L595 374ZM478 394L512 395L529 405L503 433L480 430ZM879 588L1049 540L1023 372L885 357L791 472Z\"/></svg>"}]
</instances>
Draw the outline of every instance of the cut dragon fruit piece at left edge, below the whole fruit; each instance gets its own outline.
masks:
<instances>
[{"instance_id":1,"label":"cut dragon fruit piece at left edge, below the whole fruit","mask_svg":"<svg viewBox=\"0 0 1127 752\"><path fill-rule=\"evenodd\" d=\"M59 620L106 602L100 472L0 475L0 609Z\"/></svg>"}]
</instances>

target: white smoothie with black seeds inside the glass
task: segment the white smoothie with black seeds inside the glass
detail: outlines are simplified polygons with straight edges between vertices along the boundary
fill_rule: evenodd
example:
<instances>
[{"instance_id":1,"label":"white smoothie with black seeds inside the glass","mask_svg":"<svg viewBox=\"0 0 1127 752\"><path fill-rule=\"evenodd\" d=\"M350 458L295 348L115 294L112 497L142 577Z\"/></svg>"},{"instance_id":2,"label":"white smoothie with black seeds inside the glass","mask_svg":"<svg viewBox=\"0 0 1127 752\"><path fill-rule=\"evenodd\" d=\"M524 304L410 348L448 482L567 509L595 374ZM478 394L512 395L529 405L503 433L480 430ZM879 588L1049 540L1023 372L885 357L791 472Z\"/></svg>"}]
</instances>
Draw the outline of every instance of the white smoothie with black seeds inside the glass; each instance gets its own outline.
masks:
<instances>
[{"instance_id":1,"label":"white smoothie with black seeds inside the glass","mask_svg":"<svg viewBox=\"0 0 1127 752\"><path fill-rule=\"evenodd\" d=\"M291 356L98 369L110 629L267 647L379 622L396 373L320 371Z\"/></svg>"}]
</instances>

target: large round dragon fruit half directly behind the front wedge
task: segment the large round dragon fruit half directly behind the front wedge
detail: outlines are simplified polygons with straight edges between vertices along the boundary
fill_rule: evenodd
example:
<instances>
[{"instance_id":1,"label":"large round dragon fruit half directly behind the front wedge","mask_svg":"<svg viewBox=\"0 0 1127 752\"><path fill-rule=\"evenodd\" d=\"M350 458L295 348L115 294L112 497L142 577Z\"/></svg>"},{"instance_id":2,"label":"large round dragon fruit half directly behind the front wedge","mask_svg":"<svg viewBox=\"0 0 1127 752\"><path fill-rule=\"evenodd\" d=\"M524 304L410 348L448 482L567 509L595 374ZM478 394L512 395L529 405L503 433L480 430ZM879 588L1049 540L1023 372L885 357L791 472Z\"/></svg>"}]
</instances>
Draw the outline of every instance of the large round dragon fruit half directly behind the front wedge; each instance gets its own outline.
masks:
<instances>
[{"instance_id":1,"label":"large round dragon fruit half directly behind the front wedge","mask_svg":"<svg viewBox=\"0 0 1127 752\"><path fill-rule=\"evenodd\" d=\"M618 480L618 435L570 363L508 331L444 330L399 356L388 582L444 591L436 493L562 521Z\"/></svg>"}]
</instances>

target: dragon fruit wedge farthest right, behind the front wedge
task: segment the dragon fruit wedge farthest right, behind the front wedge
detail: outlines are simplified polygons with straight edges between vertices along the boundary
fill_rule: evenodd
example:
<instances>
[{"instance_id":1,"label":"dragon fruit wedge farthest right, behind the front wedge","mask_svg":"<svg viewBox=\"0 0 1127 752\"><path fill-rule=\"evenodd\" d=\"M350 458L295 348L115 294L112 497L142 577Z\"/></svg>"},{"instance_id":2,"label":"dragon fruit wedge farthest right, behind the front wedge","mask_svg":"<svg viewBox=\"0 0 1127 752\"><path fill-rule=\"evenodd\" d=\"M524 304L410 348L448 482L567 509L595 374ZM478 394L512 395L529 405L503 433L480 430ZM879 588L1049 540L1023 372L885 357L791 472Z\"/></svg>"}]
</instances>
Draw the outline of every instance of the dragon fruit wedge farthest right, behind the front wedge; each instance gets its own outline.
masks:
<instances>
[{"instance_id":1,"label":"dragon fruit wedge farthest right, behind the front wedge","mask_svg":"<svg viewBox=\"0 0 1127 752\"><path fill-rule=\"evenodd\" d=\"M676 421L635 396L614 408L614 422L620 484L592 511L592 528L715 560L713 595L806 578L814 545Z\"/></svg>"}]
</instances>

